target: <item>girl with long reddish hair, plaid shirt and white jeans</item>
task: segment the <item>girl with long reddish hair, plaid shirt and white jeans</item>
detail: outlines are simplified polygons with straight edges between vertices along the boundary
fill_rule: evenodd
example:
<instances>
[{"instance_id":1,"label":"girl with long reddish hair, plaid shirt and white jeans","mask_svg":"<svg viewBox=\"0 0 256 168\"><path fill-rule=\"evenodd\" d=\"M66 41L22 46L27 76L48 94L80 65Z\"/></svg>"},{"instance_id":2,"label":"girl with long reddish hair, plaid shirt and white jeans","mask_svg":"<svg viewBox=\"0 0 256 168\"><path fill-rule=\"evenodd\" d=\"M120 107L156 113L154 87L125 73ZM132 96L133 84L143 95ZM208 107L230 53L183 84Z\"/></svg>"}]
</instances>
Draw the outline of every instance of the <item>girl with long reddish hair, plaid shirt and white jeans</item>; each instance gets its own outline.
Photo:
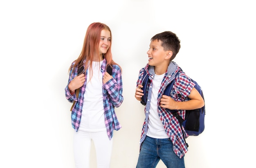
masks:
<instances>
[{"instance_id":1,"label":"girl with long reddish hair, plaid shirt and white jeans","mask_svg":"<svg viewBox=\"0 0 256 168\"><path fill-rule=\"evenodd\" d=\"M106 24L90 24L81 54L69 68L65 96L69 102L75 101L71 120L76 168L89 168L91 141L97 167L109 168L113 130L121 128L114 106L119 107L124 100L123 84L121 67L112 60L111 42ZM106 72L107 67L112 68L112 74Z\"/></svg>"}]
</instances>

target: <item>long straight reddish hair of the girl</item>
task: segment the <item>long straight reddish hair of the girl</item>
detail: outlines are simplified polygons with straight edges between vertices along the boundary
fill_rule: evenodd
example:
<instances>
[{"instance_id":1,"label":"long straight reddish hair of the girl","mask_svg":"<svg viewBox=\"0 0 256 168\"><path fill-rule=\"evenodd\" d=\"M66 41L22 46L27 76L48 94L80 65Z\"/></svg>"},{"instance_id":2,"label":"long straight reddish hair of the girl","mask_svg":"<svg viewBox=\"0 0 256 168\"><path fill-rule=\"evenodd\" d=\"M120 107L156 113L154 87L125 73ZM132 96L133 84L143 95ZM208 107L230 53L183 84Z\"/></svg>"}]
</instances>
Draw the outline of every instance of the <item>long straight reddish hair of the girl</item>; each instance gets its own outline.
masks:
<instances>
[{"instance_id":1,"label":"long straight reddish hair of the girl","mask_svg":"<svg viewBox=\"0 0 256 168\"><path fill-rule=\"evenodd\" d=\"M86 31L86 34L85 34L85 38L84 38L84 42L83 42L83 49L81 51L81 54L75 60L75 63L70 66L69 71L72 71L72 69L74 69L74 67L76 67L76 66L79 69L84 64L85 64L85 69L87 69L88 66L90 66L90 68L92 68L93 56L95 54L98 55L98 61L100 60L99 40L101 38L101 31L103 29L110 31L110 38L111 38L108 51L104 54L104 58L107 60L107 66L111 66L114 64L118 65L116 62L114 62L112 60L112 52L111 52L112 33L111 33L110 28L106 24L103 24L100 22L94 22L89 25L89 27ZM85 63L83 63L84 60L85 60ZM89 65L88 65L88 62L90 62ZM121 66L119 66L119 68L121 69ZM78 75L80 75L80 74L78 74Z\"/></svg>"}]
</instances>

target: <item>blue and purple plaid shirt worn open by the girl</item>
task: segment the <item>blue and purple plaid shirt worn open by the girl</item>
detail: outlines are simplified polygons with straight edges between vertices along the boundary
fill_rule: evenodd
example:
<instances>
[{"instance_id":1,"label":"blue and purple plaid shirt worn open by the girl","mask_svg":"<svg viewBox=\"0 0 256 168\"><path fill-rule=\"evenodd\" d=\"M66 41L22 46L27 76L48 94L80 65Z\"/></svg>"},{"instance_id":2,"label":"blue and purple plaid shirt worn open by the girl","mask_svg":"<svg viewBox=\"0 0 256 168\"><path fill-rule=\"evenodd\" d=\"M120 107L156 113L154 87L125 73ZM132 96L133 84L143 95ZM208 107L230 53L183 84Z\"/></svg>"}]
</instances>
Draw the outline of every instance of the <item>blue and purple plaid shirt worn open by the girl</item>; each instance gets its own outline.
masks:
<instances>
[{"instance_id":1,"label":"blue and purple plaid shirt worn open by the girl","mask_svg":"<svg viewBox=\"0 0 256 168\"><path fill-rule=\"evenodd\" d=\"M101 66L102 75L104 75L105 73L106 63L107 62L104 59ZM74 62L72 64L74 64ZM82 109L83 109L83 95L85 93L87 73L88 71L86 70L85 83L80 88L80 93L78 97L76 97L76 94L74 94L73 96L70 95L70 91L68 89L68 84L70 83L70 81L77 76L77 67L74 68L74 71L72 72L70 71L68 84L65 87L66 99L71 103L73 103L73 101L76 101L71 113L72 127L76 130L76 132L78 131L79 124L81 122ZM122 92L123 92L122 76L121 76L121 70L119 66L113 65L112 76L113 78L109 80L106 84L103 84L103 88L102 88L103 106L105 111L105 124L106 124L109 139L113 137L113 130L119 130L121 128L121 124L118 122L117 116L115 114L114 106L119 107L124 100L124 97L122 95Z\"/></svg>"}]
</instances>

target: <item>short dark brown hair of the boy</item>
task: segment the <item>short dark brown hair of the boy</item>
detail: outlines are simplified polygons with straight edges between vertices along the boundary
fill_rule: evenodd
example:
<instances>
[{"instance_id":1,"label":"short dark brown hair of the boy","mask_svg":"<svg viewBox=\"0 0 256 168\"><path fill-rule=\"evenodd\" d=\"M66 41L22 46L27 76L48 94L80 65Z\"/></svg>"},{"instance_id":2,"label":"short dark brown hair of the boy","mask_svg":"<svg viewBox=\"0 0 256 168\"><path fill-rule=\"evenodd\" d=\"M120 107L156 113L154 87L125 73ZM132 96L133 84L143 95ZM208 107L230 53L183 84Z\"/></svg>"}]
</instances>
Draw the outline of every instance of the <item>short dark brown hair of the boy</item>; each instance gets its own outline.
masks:
<instances>
[{"instance_id":1,"label":"short dark brown hair of the boy","mask_svg":"<svg viewBox=\"0 0 256 168\"><path fill-rule=\"evenodd\" d=\"M153 40L161 40L161 45L162 47L164 47L165 51L173 51L173 56L171 57L171 60L173 60L177 53L180 51L180 39L175 33L171 31L164 31L162 33L158 33L151 38L151 41Z\"/></svg>"}]
</instances>

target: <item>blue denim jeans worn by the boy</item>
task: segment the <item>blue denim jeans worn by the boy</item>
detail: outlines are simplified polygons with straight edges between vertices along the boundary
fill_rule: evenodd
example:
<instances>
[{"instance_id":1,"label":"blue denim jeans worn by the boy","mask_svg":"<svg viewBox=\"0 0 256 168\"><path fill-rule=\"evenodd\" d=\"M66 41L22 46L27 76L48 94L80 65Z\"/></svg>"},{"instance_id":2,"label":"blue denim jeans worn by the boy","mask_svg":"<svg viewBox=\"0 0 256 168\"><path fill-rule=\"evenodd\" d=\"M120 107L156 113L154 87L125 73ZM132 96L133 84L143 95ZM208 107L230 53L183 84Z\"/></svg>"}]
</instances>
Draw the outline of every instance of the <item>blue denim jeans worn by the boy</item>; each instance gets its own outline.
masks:
<instances>
[{"instance_id":1,"label":"blue denim jeans worn by the boy","mask_svg":"<svg viewBox=\"0 0 256 168\"><path fill-rule=\"evenodd\" d=\"M162 160L167 168L185 168L184 157L180 159L173 151L170 139L156 139L146 136L142 142L136 168L155 168Z\"/></svg>"}]
</instances>

